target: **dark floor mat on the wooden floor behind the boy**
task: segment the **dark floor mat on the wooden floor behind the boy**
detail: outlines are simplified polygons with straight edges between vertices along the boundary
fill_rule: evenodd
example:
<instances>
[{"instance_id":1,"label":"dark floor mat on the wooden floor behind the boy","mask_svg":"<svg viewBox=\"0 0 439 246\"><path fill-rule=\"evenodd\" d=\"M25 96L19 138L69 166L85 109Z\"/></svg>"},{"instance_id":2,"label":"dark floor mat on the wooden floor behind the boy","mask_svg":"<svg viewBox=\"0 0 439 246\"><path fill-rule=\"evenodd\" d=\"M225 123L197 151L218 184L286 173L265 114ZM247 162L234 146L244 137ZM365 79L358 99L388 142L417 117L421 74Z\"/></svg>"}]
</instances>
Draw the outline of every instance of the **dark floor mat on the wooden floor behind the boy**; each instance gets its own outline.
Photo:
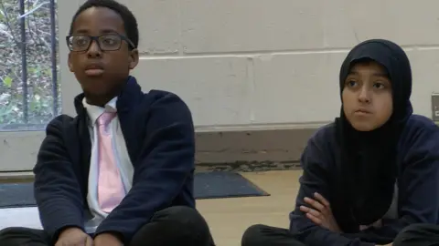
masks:
<instances>
[{"instance_id":1,"label":"dark floor mat on the wooden floor behind the boy","mask_svg":"<svg viewBox=\"0 0 439 246\"><path fill-rule=\"evenodd\" d=\"M195 174L196 199L269 196L236 172L213 171ZM0 184L0 208L34 207L33 183Z\"/></svg>"}]
</instances>

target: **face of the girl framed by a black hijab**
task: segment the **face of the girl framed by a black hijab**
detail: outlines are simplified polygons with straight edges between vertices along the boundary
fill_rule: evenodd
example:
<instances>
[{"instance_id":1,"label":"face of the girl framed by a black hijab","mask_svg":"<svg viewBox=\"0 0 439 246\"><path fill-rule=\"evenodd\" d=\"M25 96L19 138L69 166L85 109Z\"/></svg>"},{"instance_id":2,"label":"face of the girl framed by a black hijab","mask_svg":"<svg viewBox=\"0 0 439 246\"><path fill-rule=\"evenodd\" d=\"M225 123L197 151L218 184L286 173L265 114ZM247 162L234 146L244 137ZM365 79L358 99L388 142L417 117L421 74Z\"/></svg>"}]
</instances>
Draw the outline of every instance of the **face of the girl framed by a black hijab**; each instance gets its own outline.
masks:
<instances>
[{"instance_id":1,"label":"face of the girl framed by a black hijab","mask_svg":"<svg viewBox=\"0 0 439 246\"><path fill-rule=\"evenodd\" d=\"M346 118L359 131L380 128L391 118L391 80L384 67L376 62L353 66L341 96Z\"/></svg>"}]
</instances>

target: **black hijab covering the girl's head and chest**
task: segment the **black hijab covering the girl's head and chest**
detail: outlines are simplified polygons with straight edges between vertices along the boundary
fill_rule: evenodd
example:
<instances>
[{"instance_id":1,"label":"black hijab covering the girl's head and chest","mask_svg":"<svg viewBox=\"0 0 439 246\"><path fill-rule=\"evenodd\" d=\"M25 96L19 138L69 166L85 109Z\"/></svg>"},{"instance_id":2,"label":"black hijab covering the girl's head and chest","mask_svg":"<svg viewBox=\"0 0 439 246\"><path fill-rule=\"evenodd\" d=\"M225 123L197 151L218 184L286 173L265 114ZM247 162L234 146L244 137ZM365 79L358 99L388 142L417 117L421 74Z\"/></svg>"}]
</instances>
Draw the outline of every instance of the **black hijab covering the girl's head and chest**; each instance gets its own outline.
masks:
<instances>
[{"instance_id":1,"label":"black hijab covering the girl's head and chest","mask_svg":"<svg viewBox=\"0 0 439 246\"><path fill-rule=\"evenodd\" d=\"M399 136L412 115L412 71L402 48L391 41L371 39L355 46L340 69L340 95L348 73L356 63L374 61L384 67L391 80L393 112L380 128L361 132L353 128L343 108L336 118L337 142L341 163L337 194L342 216L339 226L348 232L359 224L379 220L392 201L396 181L396 157Z\"/></svg>"}]
</instances>

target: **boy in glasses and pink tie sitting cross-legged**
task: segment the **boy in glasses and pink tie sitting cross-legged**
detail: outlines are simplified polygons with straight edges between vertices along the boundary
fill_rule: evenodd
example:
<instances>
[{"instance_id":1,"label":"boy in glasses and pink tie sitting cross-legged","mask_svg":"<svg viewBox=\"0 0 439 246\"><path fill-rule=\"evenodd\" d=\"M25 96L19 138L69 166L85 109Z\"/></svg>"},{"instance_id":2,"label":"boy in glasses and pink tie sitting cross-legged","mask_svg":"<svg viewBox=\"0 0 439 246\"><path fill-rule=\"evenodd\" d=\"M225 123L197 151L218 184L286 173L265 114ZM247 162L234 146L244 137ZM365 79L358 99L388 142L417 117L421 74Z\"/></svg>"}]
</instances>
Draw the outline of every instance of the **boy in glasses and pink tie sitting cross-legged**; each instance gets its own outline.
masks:
<instances>
[{"instance_id":1,"label":"boy in glasses and pink tie sitting cross-legged","mask_svg":"<svg viewBox=\"0 0 439 246\"><path fill-rule=\"evenodd\" d=\"M138 40L134 15L113 0L87 1L73 16L69 67L83 93L77 117L48 124L37 156L44 230L5 229L0 245L213 245L195 209L191 113L129 76Z\"/></svg>"}]
</instances>

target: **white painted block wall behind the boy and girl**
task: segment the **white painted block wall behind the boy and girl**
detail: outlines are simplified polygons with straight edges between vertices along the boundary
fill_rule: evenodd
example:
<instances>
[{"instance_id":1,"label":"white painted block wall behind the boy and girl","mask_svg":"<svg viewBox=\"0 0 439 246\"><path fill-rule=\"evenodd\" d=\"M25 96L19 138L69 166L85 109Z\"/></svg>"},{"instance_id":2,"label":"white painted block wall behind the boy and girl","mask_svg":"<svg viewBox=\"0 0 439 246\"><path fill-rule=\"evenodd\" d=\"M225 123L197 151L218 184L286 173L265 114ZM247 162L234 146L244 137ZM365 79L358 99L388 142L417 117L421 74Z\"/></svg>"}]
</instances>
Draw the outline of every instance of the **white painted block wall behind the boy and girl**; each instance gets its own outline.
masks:
<instances>
[{"instance_id":1,"label":"white painted block wall behind the boy and girl","mask_svg":"<svg viewBox=\"0 0 439 246\"><path fill-rule=\"evenodd\" d=\"M63 42L84 0L59 0L64 113L80 87ZM412 61L415 112L431 117L439 91L439 1L123 0L138 19L144 90L183 97L198 130L324 123L339 112L338 69L373 37L402 45ZM1 169L31 169L44 133L0 132ZM1 142L0 142L1 144Z\"/></svg>"}]
</instances>

